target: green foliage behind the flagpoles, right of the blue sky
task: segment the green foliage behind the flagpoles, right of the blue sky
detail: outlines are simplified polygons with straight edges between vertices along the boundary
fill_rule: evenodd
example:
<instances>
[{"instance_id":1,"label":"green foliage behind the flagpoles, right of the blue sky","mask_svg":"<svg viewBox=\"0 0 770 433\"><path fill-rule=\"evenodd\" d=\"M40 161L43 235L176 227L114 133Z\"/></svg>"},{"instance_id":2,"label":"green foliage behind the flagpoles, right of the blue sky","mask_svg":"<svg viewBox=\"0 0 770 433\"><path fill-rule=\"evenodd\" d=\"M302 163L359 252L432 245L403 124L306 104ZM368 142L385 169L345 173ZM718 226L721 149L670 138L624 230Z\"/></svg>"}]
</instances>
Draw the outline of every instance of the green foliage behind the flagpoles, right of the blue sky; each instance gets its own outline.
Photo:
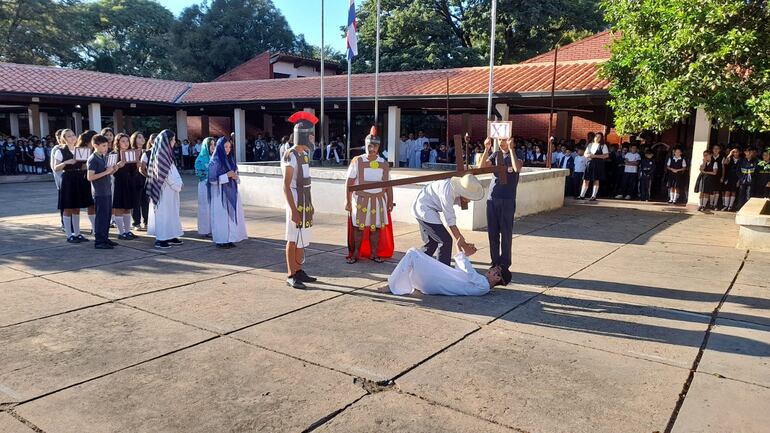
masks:
<instances>
[{"instance_id":1,"label":"green foliage behind the flagpoles, right of the blue sky","mask_svg":"<svg viewBox=\"0 0 770 433\"><path fill-rule=\"evenodd\" d=\"M602 28L598 0L499 0L495 62L515 63ZM381 0L380 69L400 71L488 62L490 0ZM358 10L359 57L374 70L376 1ZM343 29L344 31L344 29Z\"/></svg>"}]
</instances>

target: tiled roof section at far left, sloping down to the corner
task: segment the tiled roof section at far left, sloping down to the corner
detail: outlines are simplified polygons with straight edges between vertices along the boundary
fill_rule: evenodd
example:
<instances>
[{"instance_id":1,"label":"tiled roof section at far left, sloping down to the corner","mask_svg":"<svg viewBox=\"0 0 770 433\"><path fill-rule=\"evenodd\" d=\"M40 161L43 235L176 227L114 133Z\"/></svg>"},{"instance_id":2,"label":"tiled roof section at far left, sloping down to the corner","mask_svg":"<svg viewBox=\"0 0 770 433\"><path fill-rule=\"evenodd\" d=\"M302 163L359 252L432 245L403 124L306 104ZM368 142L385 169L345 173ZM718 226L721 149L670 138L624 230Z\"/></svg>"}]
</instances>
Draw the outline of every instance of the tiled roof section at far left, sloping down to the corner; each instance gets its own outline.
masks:
<instances>
[{"instance_id":1,"label":"tiled roof section at far left, sloping down to the corner","mask_svg":"<svg viewBox=\"0 0 770 433\"><path fill-rule=\"evenodd\" d=\"M189 83L50 66L0 63L0 92L173 103Z\"/></svg>"}]
</instances>

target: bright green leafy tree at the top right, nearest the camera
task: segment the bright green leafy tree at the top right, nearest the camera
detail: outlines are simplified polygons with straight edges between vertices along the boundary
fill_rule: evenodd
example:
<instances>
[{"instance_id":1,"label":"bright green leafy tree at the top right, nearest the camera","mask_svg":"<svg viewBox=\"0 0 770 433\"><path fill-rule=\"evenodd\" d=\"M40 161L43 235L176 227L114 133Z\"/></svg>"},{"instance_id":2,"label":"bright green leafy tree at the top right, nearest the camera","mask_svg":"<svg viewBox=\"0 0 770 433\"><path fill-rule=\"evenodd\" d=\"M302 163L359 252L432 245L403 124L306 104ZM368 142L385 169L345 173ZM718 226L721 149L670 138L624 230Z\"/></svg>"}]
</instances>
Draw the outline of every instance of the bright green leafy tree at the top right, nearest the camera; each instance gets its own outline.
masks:
<instances>
[{"instance_id":1,"label":"bright green leafy tree at the top right, nearest the camera","mask_svg":"<svg viewBox=\"0 0 770 433\"><path fill-rule=\"evenodd\" d=\"M620 133L662 131L698 107L721 126L770 130L766 0L603 5L619 36L602 76L612 82L610 106Z\"/></svg>"}]
</instances>

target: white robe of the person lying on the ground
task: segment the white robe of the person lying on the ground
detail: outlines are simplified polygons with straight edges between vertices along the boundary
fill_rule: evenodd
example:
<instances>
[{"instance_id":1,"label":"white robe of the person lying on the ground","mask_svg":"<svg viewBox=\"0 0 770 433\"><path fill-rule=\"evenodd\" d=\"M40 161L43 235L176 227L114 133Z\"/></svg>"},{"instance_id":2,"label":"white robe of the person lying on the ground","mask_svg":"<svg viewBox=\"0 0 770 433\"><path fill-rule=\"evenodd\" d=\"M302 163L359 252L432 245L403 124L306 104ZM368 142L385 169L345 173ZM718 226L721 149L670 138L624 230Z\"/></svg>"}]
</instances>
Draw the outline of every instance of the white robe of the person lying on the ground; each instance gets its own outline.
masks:
<instances>
[{"instance_id":1,"label":"white robe of the person lying on the ground","mask_svg":"<svg viewBox=\"0 0 770 433\"><path fill-rule=\"evenodd\" d=\"M396 295L417 289L426 295L481 296L489 292L489 280L473 269L463 253L455 256L453 268L410 248L388 277L388 287Z\"/></svg>"}]
</instances>

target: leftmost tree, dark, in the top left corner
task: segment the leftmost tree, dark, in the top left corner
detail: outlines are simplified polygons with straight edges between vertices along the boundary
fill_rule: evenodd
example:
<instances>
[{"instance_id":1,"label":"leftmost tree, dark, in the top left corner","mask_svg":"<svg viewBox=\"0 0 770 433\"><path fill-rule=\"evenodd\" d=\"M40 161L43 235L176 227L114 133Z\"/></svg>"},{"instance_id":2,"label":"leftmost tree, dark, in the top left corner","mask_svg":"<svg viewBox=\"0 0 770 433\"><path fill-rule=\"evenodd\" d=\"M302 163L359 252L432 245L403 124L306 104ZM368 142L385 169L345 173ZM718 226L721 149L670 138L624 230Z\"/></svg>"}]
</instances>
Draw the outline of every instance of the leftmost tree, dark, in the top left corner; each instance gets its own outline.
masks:
<instances>
[{"instance_id":1,"label":"leftmost tree, dark, in the top left corner","mask_svg":"<svg viewBox=\"0 0 770 433\"><path fill-rule=\"evenodd\" d=\"M0 61L51 65L76 61L90 37L76 0L0 2Z\"/></svg>"}]
</instances>

